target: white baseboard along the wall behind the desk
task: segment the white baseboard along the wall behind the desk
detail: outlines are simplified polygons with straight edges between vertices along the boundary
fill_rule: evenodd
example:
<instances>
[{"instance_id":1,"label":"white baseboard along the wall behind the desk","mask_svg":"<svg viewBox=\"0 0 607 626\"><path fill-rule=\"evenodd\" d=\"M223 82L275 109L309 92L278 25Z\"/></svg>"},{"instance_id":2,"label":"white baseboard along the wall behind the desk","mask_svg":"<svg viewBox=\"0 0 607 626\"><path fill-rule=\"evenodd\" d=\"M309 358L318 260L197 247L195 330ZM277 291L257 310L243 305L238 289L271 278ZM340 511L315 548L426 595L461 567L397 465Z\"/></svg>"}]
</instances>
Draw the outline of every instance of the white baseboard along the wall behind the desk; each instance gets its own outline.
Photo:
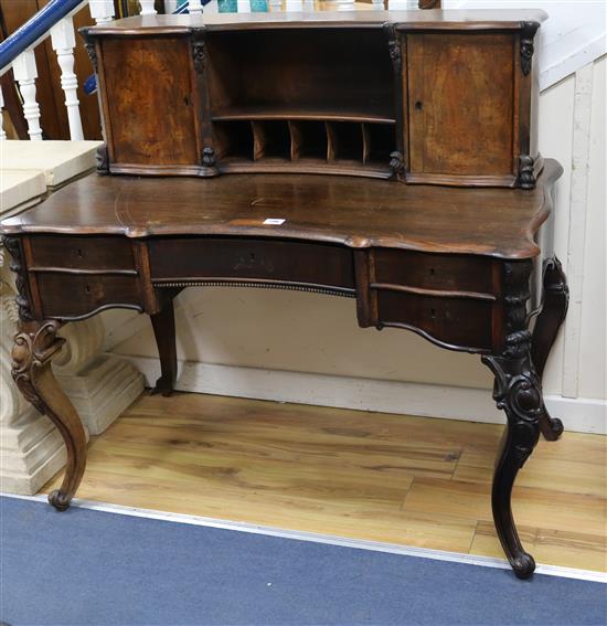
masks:
<instances>
[{"instance_id":1,"label":"white baseboard along the wall behind the desk","mask_svg":"<svg viewBox=\"0 0 607 626\"><path fill-rule=\"evenodd\" d=\"M151 386L160 375L158 359L125 354L121 357L141 371L148 386ZM175 386L179 391L214 395L491 424L504 423L503 414L496 409L491 392L487 389L188 361L179 363L179 378ZM569 399L558 395L547 395L545 401L551 414L563 420L567 431L607 434L607 401Z\"/></svg>"}]
</instances>

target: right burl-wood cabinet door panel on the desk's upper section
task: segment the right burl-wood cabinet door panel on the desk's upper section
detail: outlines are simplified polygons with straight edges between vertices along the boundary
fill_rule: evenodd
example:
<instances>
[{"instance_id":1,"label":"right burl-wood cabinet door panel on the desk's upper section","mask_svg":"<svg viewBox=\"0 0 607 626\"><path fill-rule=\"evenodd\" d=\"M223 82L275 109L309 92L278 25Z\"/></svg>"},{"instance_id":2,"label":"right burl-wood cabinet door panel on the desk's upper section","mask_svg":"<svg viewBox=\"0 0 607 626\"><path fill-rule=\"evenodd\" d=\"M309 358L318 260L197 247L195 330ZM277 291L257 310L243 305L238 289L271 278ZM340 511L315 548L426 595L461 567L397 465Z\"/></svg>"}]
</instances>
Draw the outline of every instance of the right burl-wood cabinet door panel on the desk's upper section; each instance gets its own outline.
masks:
<instances>
[{"instance_id":1,"label":"right burl-wood cabinet door panel on the desk's upper section","mask_svg":"<svg viewBox=\"0 0 607 626\"><path fill-rule=\"evenodd\" d=\"M409 34L407 70L413 173L513 174L511 34Z\"/></svg>"}]
</instances>

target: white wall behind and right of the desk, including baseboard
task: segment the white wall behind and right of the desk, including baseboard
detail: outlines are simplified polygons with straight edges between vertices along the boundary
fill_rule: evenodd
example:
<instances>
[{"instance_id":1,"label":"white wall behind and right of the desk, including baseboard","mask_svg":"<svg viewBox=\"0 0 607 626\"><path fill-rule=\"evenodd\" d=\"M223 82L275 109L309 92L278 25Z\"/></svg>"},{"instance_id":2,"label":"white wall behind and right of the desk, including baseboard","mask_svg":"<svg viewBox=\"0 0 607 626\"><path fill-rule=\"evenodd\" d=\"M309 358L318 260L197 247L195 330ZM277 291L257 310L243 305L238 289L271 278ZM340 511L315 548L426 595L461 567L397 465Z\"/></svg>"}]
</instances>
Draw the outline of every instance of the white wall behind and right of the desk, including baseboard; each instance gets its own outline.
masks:
<instances>
[{"instance_id":1,"label":"white wall behind and right of the desk, including baseboard","mask_svg":"<svg viewBox=\"0 0 607 626\"><path fill-rule=\"evenodd\" d=\"M544 386L553 414L572 429L593 432L607 429L606 72L605 57L581 67L544 91L540 106L541 151L565 168L556 189L555 250L572 290ZM190 288L177 306L179 358L190 362L181 389L503 421L478 357L435 348L403 330L360 329L354 300ZM153 380L156 347L147 319L109 311L106 327L108 347L134 358Z\"/></svg>"}]
</instances>

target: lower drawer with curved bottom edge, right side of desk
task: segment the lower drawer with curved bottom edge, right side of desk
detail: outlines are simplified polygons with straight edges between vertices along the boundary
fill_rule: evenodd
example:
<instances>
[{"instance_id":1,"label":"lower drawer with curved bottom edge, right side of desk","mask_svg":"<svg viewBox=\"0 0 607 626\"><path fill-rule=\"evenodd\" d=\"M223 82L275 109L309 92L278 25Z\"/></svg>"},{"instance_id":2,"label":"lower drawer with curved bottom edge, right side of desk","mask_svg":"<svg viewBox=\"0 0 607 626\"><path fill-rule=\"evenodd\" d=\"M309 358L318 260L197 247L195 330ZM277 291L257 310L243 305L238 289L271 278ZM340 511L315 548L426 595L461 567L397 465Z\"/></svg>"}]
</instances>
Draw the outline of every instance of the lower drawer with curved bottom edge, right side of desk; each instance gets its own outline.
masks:
<instances>
[{"instance_id":1,"label":"lower drawer with curved bottom edge, right side of desk","mask_svg":"<svg viewBox=\"0 0 607 626\"><path fill-rule=\"evenodd\" d=\"M398 291L377 291L379 321L422 330L439 342L490 349L492 303Z\"/></svg>"}]
</instances>

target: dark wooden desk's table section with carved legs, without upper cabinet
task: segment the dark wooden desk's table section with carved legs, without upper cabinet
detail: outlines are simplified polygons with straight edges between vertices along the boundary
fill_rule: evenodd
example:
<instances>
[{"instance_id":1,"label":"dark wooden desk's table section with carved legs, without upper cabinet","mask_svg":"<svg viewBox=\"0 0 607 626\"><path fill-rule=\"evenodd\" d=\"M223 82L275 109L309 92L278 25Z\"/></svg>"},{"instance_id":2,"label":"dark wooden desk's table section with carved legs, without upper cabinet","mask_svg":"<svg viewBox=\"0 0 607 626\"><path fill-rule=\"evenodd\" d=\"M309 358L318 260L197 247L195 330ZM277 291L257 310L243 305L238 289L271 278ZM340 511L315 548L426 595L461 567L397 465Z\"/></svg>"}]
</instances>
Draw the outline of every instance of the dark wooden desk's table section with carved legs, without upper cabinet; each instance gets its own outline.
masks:
<instances>
[{"instance_id":1,"label":"dark wooden desk's table section with carved legs, without upper cabinet","mask_svg":"<svg viewBox=\"0 0 607 626\"><path fill-rule=\"evenodd\" d=\"M162 372L156 390L170 394L172 298L181 289L319 291L355 298L362 327L411 329L444 348L478 353L492 370L493 397L508 417L493 516L514 572L529 576L534 561L517 534L510 499L540 432L555 439L563 429L544 406L541 376L567 287L550 243L539 245L561 171L546 160L534 190L313 174L205 181L94 174L4 221L21 319L13 376L60 428L68 453L51 503L70 506L86 460L82 423L50 367L62 323L111 307L148 314ZM543 296L530 289L542 253Z\"/></svg>"}]
</instances>

